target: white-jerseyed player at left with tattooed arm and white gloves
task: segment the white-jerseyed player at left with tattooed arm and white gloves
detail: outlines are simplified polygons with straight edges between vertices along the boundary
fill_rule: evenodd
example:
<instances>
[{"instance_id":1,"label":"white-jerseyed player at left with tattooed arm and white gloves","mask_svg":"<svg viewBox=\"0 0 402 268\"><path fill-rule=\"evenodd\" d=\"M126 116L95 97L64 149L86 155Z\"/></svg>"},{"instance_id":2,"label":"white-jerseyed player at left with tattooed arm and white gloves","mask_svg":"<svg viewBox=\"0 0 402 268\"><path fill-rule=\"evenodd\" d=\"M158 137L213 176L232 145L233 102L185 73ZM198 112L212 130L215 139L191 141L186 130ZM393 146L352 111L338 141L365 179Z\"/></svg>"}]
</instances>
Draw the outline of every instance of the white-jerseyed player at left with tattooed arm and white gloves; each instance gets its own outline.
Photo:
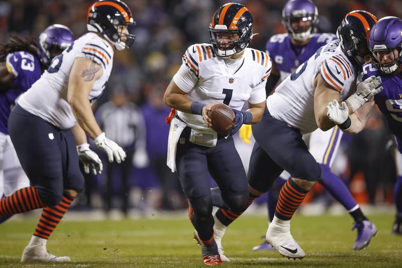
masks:
<instances>
[{"instance_id":1,"label":"white-jerseyed player at left with tattooed arm and white gloves","mask_svg":"<svg viewBox=\"0 0 402 268\"><path fill-rule=\"evenodd\" d=\"M121 162L126 153L96 124L91 102L109 79L115 49L129 48L135 37L131 10L121 1L99 1L87 13L87 29L55 57L47 71L18 100L10 114L9 133L31 187L0 201L0 216L43 208L21 261L69 261L46 250L47 239L84 186L84 171L102 171L102 162L89 149L86 135ZM77 145L77 146L76 146ZM78 153L77 153L78 152Z\"/></svg>"}]
</instances>

